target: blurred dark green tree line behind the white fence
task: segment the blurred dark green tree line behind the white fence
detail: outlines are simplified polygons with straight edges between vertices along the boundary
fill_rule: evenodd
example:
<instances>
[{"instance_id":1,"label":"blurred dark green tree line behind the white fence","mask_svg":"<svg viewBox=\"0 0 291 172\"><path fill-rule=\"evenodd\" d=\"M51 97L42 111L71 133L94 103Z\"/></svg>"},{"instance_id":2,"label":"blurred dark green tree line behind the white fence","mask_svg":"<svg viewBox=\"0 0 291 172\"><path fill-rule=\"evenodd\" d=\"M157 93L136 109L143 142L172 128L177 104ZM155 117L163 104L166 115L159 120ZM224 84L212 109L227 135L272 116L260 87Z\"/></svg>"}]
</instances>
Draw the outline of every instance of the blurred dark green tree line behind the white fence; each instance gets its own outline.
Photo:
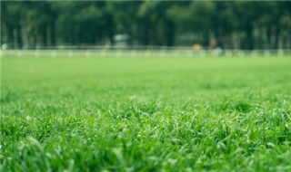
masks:
<instances>
[{"instance_id":1,"label":"blurred dark green tree line behind the white fence","mask_svg":"<svg viewBox=\"0 0 291 172\"><path fill-rule=\"evenodd\" d=\"M4 1L1 44L291 48L290 1Z\"/></svg>"}]
</instances>

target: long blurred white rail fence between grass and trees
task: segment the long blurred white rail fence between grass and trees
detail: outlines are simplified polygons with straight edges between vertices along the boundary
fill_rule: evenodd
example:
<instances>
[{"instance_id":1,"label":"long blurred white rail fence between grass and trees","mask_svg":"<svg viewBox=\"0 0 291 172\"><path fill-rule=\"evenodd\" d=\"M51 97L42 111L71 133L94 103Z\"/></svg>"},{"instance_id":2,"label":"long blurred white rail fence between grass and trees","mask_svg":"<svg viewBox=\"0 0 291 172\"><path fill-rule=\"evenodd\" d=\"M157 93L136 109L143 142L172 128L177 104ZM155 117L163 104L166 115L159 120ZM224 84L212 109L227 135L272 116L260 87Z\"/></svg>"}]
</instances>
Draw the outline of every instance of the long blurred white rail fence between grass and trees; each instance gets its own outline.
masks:
<instances>
[{"instance_id":1,"label":"long blurred white rail fence between grass and trees","mask_svg":"<svg viewBox=\"0 0 291 172\"><path fill-rule=\"evenodd\" d=\"M68 50L0 50L1 57L291 57L291 49L284 50L194 50L188 48L165 49L68 49Z\"/></svg>"}]
</instances>

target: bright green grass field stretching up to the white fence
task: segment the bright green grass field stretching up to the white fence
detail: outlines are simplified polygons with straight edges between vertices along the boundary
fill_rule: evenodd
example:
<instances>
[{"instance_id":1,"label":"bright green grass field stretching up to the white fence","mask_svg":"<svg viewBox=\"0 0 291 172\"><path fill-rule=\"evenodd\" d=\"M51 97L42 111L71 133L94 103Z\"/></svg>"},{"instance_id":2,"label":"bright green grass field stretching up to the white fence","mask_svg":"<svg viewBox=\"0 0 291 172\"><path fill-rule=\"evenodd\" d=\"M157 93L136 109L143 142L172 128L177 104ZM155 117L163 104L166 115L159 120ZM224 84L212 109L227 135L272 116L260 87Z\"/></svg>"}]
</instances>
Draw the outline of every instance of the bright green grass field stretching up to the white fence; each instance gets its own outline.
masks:
<instances>
[{"instance_id":1,"label":"bright green grass field stretching up to the white fence","mask_svg":"<svg viewBox=\"0 0 291 172\"><path fill-rule=\"evenodd\" d=\"M291 58L1 58L0 171L291 171Z\"/></svg>"}]
</instances>

